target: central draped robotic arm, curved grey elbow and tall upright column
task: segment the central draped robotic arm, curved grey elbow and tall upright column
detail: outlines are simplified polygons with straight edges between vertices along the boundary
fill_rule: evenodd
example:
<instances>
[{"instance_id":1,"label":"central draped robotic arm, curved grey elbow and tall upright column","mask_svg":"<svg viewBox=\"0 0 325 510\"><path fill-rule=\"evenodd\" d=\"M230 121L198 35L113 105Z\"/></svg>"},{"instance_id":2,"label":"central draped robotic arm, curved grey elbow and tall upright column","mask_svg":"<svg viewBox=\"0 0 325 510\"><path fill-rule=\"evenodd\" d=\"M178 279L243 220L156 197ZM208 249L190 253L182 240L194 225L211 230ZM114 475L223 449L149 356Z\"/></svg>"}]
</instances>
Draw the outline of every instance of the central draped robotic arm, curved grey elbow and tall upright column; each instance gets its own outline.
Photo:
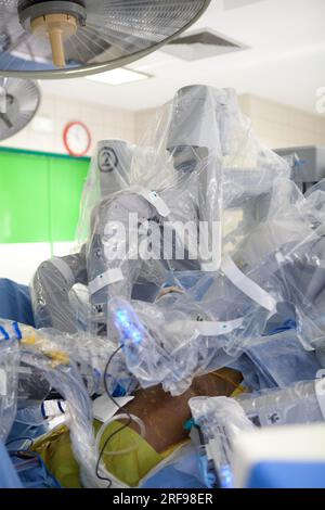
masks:
<instances>
[{"instance_id":1,"label":"central draped robotic arm, curved grey elbow and tall upright column","mask_svg":"<svg viewBox=\"0 0 325 510\"><path fill-rule=\"evenodd\" d=\"M188 260L178 259L173 253L171 259L166 260L165 256L160 259L167 222L177 237L174 224L184 226L192 220L197 234L198 222L205 222L199 240L196 235L203 250L195 246L194 267L197 269L200 265L203 270L214 271L219 268L222 163L227 151L233 99L230 91L204 86L181 89L171 104L165 140L165 151L173 161L172 186L151 190L147 182L139 186L130 182L128 189L110 195L96 207L87 247L89 290L95 309L106 313L107 302L113 296L130 299L134 284L148 266L154 267L152 275L155 271L164 275L164 268L191 268ZM142 227L146 222L151 228L145 231ZM155 230L157 235L151 238L153 258L143 264L139 248L148 230ZM188 243L181 242L188 254ZM210 258L202 259L207 253Z\"/></svg>"}]
</instances>

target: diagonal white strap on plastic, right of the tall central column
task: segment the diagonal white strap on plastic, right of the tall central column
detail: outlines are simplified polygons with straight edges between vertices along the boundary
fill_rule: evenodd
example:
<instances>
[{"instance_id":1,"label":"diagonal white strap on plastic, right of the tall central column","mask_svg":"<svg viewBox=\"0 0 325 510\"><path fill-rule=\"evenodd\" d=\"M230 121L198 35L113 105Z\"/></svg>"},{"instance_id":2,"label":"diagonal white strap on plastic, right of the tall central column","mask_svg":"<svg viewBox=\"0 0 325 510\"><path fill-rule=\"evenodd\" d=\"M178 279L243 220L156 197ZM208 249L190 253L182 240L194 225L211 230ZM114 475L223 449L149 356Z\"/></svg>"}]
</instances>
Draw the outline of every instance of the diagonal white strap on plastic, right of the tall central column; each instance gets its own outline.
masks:
<instances>
[{"instance_id":1,"label":"diagonal white strap on plastic, right of the tall central column","mask_svg":"<svg viewBox=\"0 0 325 510\"><path fill-rule=\"evenodd\" d=\"M252 301L269 311L275 309L276 301L274 297L261 289L255 281L250 280L250 278L247 278L230 257L226 257L222 263L221 270L237 289Z\"/></svg>"}]
</instances>

